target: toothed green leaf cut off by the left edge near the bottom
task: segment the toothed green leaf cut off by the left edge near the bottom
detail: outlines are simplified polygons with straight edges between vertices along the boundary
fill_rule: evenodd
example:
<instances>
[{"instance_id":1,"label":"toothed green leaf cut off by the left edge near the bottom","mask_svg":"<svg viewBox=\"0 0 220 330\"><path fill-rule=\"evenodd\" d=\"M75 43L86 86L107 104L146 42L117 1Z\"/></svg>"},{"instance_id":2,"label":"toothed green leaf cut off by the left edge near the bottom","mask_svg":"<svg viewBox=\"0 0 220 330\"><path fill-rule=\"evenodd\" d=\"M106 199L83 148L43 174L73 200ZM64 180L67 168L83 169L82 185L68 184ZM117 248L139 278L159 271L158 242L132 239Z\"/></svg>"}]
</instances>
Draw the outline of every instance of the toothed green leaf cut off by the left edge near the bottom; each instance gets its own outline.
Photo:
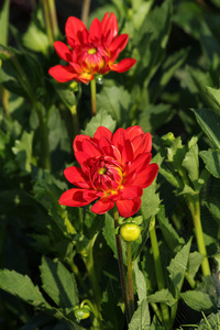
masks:
<instances>
[{"instance_id":1,"label":"toothed green leaf cut off by the left edge near the bottom","mask_svg":"<svg viewBox=\"0 0 220 330\"><path fill-rule=\"evenodd\" d=\"M26 302L41 309L52 309L42 296L37 286L31 282L26 275L21 275L14 271L0 271L0 288L18 296Z\"/></svg>"}]
</instances>

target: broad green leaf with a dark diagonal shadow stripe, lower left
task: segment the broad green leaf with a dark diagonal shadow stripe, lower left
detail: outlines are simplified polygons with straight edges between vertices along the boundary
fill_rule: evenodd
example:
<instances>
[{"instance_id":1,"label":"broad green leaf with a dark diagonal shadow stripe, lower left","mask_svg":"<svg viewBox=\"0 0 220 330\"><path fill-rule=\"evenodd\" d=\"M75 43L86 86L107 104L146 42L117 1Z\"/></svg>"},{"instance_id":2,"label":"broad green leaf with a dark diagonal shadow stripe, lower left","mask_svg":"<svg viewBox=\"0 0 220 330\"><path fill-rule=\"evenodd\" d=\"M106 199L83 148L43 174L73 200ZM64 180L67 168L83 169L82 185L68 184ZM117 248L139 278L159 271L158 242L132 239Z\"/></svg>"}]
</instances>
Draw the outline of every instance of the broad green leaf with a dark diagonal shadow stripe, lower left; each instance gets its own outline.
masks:
<instances>
[{"instance_id":1,"label":"broad green leaf with a dark diagonal shadow stripe, lower left","mask_svg":"<svg viewBox=\"0 0 220 330\"><path fill-rule=\"evenodd\" d=\"M58 307L70 308L78 304L78 292L74 274L61 262L42 257L41 278L43 289Z\"/></svg>"}]
</instances>

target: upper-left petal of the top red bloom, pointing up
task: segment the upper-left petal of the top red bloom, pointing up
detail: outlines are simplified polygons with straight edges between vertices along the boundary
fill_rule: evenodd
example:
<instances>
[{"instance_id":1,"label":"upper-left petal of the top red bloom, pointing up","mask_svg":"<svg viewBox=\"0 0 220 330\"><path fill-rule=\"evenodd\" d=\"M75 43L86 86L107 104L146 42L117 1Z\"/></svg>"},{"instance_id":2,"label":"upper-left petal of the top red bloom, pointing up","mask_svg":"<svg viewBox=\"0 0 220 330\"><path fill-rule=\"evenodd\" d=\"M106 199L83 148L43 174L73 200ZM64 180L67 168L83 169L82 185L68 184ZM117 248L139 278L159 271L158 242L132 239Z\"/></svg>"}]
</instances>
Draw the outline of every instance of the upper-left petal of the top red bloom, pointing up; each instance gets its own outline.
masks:
<instances>
[{"instance_id":1,"label":"upper-left petal of the top red bloom, pointing up","mask_svg":"<svg viewBox=\"0 0 220 330\"><path fill-rule=\"evenodd\" d=\"M88 30L86 29L86 25L81 20L75 16L68 18L68 20L66 21L65 33L69 46L74 47L76 44L84 44L84 42L86 42L86 35L85 33L82 33L84 31L87 31L88 35ZM72 40L75 41L74 45Z\"/></svg>"}]
</instances>

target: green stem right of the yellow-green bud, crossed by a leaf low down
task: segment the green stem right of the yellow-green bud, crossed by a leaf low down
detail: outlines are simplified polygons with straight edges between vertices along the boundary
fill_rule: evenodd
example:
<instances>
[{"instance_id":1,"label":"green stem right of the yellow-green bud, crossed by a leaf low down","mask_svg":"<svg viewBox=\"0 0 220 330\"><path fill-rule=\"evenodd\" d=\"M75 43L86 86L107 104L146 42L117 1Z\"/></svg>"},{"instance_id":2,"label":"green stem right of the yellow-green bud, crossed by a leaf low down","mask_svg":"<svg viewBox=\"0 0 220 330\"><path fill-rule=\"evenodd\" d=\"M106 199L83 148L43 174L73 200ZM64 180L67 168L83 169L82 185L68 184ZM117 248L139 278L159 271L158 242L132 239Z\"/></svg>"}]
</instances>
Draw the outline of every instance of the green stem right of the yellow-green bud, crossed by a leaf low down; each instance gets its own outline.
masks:
<instances>
[{"instance_id":1,"label":"green stem right of the yellow-green bud, crossed by a leaf low down","mask_svg":"<svg viewBox=\"0 0 220 330\"><path fill-rule=\"evenodd\" d=\"M161 254L158 250L158 242L156 237L156 230L155 230L155 217L152 218L151 224L150 224L150 239L152 244L152 251L153 251L153 258L154 258L154 266L156 272L156 282L158 290L162 290L165 288L164 277L163 277L163 270L162 270L162 263L161 263ZM169 310L168 306L164 302L161 304L161 310L162 310L162 318L163 322L166 329L169 328Z\"/></svg>"}]
</instances>

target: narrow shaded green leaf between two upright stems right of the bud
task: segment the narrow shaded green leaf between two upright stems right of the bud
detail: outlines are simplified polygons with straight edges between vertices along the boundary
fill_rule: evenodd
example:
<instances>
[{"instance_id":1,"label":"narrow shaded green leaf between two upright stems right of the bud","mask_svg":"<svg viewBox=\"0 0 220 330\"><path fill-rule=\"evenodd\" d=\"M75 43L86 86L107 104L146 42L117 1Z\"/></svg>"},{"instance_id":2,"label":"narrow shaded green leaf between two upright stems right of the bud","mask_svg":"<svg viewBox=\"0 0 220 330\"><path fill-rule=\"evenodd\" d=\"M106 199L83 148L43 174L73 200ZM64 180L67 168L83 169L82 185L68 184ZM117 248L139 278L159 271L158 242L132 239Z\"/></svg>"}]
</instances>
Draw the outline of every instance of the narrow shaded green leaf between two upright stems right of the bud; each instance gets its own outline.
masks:
<instances>
[{"instance_id":1,"label":"narrow shaded green leaf between two upright stems right of the bud","mask_svg":"<svg viewBox=\"0 0 220 330\"><path fill-rule=\"evenodd\" d=\"M157 213L157 219L160 228L163 232L164 239L172 251L176 248L182 246L185 242L183 238L179 238L173 226L168 222L165 216L165 208L162 206L160 212Z\"/></svg>"}]
</instances>

